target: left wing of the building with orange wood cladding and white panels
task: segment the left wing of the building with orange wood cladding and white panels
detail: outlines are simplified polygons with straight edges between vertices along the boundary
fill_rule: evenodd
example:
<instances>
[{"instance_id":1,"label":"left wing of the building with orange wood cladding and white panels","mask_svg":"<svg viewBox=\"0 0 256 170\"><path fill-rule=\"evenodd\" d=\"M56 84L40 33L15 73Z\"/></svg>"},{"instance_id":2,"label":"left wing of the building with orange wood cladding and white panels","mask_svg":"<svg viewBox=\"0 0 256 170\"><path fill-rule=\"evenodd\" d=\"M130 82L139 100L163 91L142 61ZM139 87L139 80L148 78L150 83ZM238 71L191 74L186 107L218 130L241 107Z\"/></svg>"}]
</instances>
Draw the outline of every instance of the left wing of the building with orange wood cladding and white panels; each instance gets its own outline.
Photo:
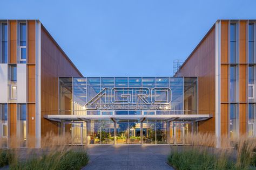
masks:
<instances>
[{"instance_id":1,"label":"left wing of the building with orange wood cladding and white panels","mask_svg":"<svg viewBox=\"0 0 256 170\"><path fill-rule=\"evenodd\" d=\"M82 74L38 20L0 20L0 41L1 147L41 147L58 133L43 118L58 110L58 77Z\"/></svg>"}]
</instances>

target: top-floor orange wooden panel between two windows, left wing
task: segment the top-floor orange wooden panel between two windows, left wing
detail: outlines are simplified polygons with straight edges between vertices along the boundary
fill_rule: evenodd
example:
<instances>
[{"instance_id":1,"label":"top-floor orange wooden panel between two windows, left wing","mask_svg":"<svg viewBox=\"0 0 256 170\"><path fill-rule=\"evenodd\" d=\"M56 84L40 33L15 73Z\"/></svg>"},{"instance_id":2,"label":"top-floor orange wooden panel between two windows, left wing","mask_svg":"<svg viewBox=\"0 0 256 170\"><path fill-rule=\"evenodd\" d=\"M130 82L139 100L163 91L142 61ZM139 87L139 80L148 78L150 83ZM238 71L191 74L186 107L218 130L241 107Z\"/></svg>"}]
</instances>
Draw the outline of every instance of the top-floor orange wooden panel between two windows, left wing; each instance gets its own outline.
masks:
<instances>
[{"instance_id":1,"label":"top-floor orange wooden panel between two windows, left wing","mask_svg":"<svg viewBox=\"0 0 256 170\"><path fill-rule=\"evenodd\" d=\"M17 63L17 22L11 20L9 22L9 63Z\"/></svg>"}]
</instances>

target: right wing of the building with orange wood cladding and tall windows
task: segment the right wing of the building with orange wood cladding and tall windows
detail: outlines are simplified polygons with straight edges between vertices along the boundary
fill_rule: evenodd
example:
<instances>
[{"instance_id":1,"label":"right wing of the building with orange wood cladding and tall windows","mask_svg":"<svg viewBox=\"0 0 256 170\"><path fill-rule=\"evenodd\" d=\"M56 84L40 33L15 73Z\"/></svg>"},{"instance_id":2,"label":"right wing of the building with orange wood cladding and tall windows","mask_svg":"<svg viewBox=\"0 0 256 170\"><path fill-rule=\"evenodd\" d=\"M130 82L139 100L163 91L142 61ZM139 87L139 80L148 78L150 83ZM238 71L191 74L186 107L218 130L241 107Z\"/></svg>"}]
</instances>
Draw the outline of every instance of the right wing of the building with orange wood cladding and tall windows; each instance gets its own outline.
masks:
<instances>
[{"instance_id":1,"label":"right wing of the building with orange wood cladding and tall windows","mask_svg":"<svg viewBox=\"0 0 256 170\"><path fill-rule=\"evenodd\" d=\"M199 131L221 139L255 137L255 20L218 20L175 76L198 77Z\"/></svg>"}]
</instances>

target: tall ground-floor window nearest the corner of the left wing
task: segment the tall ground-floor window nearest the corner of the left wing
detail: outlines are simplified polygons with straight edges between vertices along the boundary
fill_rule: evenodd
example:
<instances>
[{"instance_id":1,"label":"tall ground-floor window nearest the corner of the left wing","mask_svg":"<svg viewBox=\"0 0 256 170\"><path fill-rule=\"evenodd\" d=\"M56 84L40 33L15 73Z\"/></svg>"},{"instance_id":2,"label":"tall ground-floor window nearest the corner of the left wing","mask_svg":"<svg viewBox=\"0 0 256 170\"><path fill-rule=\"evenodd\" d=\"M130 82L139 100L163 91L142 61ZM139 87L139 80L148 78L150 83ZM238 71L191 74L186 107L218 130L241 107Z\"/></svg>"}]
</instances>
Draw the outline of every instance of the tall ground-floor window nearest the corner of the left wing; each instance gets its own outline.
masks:
<instances>
[{"instance_id":1,"label":"tall ground-floor window nearest the corner of the left wing","mask_svg":"<svg viewBox=\"0 0 256 170\"><path fill-rule=\"evenodd\" d=\"M21 147L26 147L26 104L19 104Z\"/></svg>"}]
</instances>

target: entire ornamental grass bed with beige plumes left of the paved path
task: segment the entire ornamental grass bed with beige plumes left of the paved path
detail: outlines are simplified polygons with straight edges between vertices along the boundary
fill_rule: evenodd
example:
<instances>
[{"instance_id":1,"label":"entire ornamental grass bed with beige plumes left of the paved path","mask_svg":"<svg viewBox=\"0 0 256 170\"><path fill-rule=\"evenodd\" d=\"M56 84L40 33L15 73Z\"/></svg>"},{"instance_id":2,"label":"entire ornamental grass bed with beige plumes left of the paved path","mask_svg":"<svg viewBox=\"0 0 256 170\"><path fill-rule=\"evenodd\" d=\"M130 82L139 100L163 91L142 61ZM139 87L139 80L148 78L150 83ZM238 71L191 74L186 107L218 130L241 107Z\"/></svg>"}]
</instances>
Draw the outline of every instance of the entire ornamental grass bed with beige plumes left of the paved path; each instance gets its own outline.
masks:
<instances>
[{"instance_id":1,"label":"entire ornamental grass bed with beige plumes left of the paved path","mask_svg":"<svg viewBox=\"0 0 256 170\"><path fill-rule=\"evenodd\" d=\"M48 133L42 148L0 150L0 167L9 169L81 169L89 162L86 147L72 146L70 136Z\"/></svg>"}]
</instances>

